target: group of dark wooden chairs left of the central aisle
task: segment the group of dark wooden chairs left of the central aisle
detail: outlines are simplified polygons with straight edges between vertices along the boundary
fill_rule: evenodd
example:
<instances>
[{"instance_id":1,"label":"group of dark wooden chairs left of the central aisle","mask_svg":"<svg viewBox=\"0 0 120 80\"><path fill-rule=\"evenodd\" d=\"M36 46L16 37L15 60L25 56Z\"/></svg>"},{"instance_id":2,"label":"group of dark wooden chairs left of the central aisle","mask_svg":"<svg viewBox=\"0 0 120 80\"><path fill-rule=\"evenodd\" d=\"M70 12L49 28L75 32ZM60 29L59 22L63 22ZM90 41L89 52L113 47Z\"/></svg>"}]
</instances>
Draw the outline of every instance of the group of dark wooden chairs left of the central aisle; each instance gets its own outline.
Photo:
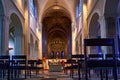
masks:
<instances>
[{"instance_id":1,"label":"group of dark wooden chairs left of the central aisle","mask_svg":"<svg viewBox=\"0 0 120 80\"><path fill-rule=\"evenodd\" d=\"M12 59L10 59L9 55L0 56L0 70L2 72L2 78L7 75L7 80L10 80L11 78L18 78L22 73L21 71L24 71L26 79L27 72L29 72L31 77L32 70L35 70L37 75L38 70L40 69L43 70L42 60L27 60L26 55L13 55Z\"/></svg>"}]
</instances>

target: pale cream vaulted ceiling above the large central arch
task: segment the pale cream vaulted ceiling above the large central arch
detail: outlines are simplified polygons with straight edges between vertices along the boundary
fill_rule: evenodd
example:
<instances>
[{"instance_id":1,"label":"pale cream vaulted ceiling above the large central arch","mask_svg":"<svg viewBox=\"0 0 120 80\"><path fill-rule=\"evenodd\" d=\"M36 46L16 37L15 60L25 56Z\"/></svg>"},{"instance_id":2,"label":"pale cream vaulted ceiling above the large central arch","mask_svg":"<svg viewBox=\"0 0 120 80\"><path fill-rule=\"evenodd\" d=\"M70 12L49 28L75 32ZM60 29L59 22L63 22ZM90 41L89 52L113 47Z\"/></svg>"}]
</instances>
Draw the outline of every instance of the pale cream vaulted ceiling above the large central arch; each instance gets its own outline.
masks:
<instances>
[{"instance_id":1,"label":"pale cream vaulted ceiling above the large central arch","mask_svg":"<svg viewBox=\"0 0 120 80\"><path fill-rule=\"evenodd\" d=\"M52 6L56 4L64 9L69 15L72 22L75 21L76 0L36 0L39 8L39 22L42 22L43 16ZM53 10L51 10L53 11ZM50 12L50 11L49 11Z\"/></svg>"}]
</instances>

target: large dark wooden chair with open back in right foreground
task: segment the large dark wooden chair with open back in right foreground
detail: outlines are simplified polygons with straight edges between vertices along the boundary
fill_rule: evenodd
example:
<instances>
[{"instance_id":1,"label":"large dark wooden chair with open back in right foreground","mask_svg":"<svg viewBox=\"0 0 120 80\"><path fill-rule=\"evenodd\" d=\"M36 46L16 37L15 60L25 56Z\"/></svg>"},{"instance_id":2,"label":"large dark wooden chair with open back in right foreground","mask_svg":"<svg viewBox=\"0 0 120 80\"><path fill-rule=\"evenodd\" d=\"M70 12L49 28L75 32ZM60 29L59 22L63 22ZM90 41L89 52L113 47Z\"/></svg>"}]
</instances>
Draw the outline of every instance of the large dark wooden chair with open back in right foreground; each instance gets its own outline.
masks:
<instances>
[{"instance_id":1,"label":"large dark wooden chair with open back in right foreground","mask_svg":"<svg viewBox=\"0 0 120 80\"><path fill-rule=\"evenodd\" d=\"M87 46L112 46L113 53L113 65L109 65L109 60L88 60L87 57ZM114 39L112 38L102 38L102 39L84 39L84 53L85 53L85 79L88 80L88 69L90 68L113 68L113 77L114 80L117 80L117 71L116 71L116 57L115 57L115 45ZM103 78L101 78L103 80Z\"/></svg>"}]
</instances>

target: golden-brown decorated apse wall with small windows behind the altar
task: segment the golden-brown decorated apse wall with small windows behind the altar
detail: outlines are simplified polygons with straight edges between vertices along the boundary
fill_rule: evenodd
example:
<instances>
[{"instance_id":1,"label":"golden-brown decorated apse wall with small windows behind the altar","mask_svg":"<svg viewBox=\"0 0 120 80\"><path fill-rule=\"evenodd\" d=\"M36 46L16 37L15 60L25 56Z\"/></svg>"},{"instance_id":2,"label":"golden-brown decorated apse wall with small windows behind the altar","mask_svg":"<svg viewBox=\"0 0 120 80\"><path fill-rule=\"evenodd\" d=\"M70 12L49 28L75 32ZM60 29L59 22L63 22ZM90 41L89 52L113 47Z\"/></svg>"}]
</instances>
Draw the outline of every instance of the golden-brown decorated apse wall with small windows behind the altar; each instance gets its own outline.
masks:
<instances>
[{"instance_id":1,"label":"golden-brown decorated apse wall with small windows behind the altar","mask_svg":"<svg viewBox=\"0 0 120 80\"><path fill-rule=\"evenodd\" d=\"M60 39L54 39L50 42L49 45L50 51L50 58L55 59L63 59L64 58L64 49L65 49L65 42Z\"/></svg>"}]
</instances>

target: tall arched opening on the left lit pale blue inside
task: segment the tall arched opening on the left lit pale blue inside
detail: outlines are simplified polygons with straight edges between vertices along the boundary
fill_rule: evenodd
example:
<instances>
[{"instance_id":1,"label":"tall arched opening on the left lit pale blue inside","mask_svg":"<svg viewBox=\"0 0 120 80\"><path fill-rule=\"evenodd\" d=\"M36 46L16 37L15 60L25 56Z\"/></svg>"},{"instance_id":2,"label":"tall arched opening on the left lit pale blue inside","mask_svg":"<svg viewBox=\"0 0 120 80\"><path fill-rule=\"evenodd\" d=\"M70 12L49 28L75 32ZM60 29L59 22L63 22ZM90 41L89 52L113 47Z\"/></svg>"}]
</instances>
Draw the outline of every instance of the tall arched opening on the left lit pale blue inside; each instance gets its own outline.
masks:
<instances>
[{"instance_id":1,"label":"tall arched opening on the left lit pale blue inside","mask_svg":"<svg viewBox=\"0 0 120 80\"><path fill-rule=\"evenodd\" d=\"M13 13L10 16L11 23L9 25L9 52L10 55L22 54L22 36L23 29L19 17Z\"/></svg>"}]
</instances>

